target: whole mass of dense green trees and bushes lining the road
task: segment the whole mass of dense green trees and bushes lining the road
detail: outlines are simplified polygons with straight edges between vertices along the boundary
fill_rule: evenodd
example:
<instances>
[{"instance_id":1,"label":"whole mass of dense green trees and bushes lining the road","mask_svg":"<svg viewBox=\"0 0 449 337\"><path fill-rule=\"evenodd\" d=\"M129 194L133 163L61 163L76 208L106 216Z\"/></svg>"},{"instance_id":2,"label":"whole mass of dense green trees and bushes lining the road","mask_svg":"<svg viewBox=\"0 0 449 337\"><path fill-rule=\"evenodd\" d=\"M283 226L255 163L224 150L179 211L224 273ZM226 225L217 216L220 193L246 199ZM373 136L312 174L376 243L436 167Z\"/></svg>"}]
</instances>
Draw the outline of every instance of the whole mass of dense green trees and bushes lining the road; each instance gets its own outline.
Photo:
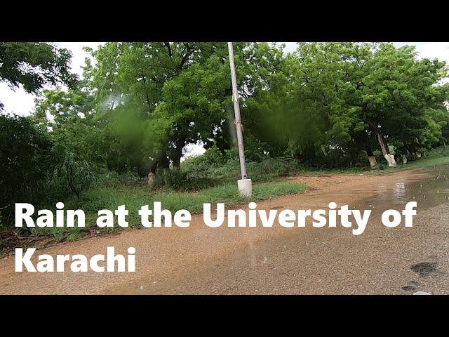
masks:
<instances>
[{"instance_id":1,"label":"whole mass of dense green trees and bushes lining the road","mask_svg":"<svg viewBox=\"0 0 449 337\"><path fill-rule=\"evenodd\" d=\"M227 44L114 42L88 52L76 79L65 49L0 43L0 81L30 92L63 85L44 90L30 117L0 116L3 223L15 202L91 204L93 190L148 190L149 173L152 188L187 191L239 176ZM366 167L368 157L393 165L449 136L447 67L417 59L412 46L300 43L284 53L236 43L234 53L253 180ZM181 164L189 144L206 153Z\"/></svg>"}]
</instances>

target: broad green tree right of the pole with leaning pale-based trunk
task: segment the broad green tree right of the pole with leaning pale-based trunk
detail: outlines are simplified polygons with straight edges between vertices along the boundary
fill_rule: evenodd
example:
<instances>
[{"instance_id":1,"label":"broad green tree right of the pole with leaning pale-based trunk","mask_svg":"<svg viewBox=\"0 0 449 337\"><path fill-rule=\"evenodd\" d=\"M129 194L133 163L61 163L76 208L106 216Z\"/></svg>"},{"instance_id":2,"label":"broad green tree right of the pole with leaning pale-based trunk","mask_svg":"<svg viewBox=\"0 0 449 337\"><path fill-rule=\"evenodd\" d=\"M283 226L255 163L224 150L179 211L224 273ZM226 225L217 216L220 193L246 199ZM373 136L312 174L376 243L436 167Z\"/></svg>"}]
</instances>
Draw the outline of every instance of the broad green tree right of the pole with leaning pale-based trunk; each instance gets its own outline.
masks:
<instances>
[{"instance_id":1,"label":"broad green tree right of the pole with leaning pale-based trunk","mask_svg":"<svg viewBox=\"0 0 449 337\"><path fill-rule=\"evenodd\" d=\"M445 74L444 62L416 60L409 46L302 43L286 58L287 80L256 105L267 104L265 124L295 156L370 155L375 140L394 164L388 143L408 148L416 139L429 147L442 139L448 85L437 84Z\"/></svg>"}]
</instances>

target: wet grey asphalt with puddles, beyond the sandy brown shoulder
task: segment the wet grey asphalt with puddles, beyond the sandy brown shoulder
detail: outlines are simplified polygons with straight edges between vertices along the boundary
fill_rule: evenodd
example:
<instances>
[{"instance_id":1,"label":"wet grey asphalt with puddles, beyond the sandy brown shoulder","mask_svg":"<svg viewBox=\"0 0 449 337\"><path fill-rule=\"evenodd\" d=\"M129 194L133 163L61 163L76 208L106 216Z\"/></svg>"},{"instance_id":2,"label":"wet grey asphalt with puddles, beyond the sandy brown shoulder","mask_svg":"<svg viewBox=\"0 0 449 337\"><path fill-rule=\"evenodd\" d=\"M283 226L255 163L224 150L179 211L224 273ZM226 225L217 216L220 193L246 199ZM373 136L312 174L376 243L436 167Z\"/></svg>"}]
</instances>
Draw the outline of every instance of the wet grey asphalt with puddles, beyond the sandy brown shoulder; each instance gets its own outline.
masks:
<instances>
[{"instance_id":1,"label":"wet grey asphalt with puddles, beyond the sandy brown shoulder","mask_svg":"<svg viewBox=\"0 0 449 337\"><path fill-rule=\"evenodd\" d=\"M443 271L437 269L446 270L443 260L438 263L437 256L421 256L427 247L423 246L424 239L429 237L422 234L424 232L384 230L380 213L387 209L401 211L409 201L417 201L418 214L425 209L448 204L449 165L423 171L429 173L427 178L416 178L419 175L407 173L395 180L386 178L385 183L380 180L379 184L368 187L375 192L371 197L349 203L350 209L373 209L375 214L370 220L373 223L367 227L372 230L368 233L354 237L344 230L312 231L303 228L273 239L255 242L248 239L246 248L234 251L208 269L168 282L167 286L183 289L186 293L391 293L398 289L422 290L425 284L408 282L410 274L406 270L425 277L420 282L429 282L431 277L426 276L434 273L443 275ZM337 197L338 192L325 196L327 199ZM281 208L283 206L278 204L271 209ZM405 234L403 239L402 234ZM440 255L438 250L432 253ZM163 289L161 286L159 292L164 293ZM444 290L441 292L445 293Z\"/></svg>"}]
</instances>

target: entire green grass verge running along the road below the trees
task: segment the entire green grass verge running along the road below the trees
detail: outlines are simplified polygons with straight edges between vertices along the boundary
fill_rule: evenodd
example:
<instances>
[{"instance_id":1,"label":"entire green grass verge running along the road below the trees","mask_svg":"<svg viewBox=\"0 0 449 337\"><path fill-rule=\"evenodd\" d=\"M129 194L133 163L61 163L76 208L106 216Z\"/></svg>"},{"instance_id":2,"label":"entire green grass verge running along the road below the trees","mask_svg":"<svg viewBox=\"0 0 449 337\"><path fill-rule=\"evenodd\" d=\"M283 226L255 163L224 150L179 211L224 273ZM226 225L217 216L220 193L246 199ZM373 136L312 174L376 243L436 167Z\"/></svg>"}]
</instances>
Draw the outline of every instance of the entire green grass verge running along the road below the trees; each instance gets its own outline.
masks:
<instances>
[{"instance_id":1,"label":"entire green grass verge running along the road below the trees","mask_svg":"<svg viewBox=\"0 0 449 337\"><path fill-rule=\"evenodd\" d=\"M273 173L267 170L264 177L267 180L276 179L276 175L288 174L382 174L394 171L401 171L404 169L415 169L425 166L436 166L441 164L449 164L449 147L438 147L427 154L427 157L422 157L414 161L409 161L408 164L398 164L396 167L388 167L382 161L378 162L378 166L382 165L384 169L370 170L368 167L351 167L348 169L306 169L297 167L286 172L285 169L280 173ZM261 180L259 178L257 180ZM215 187L208 187L197 192L176 192L168 188L161 190L149 190L145 185L113 185L109 187L93 187L90 190L83 192L81 201L72 197L64 201L65 209L82 209L86 214L85 228L70 228L65 227L51 227L51 228L31 228L31 234L43 235L48 234L54 237L56 241L68 240L75 241L81 237L86 237L89 234L102 234L105 232L114 232L118 227L101 229L96 227L97 212L100 209L114 210L117 206L126 205L129 211L128 222L130 227L140 225L140 216L138 210L141 206L149 204L152 205L154 201L161 201L164 209L169 209L174 213L179 209L187 209L192 214L201 213L203 210L203 203L210 202L215 204L217 202L224 202L227 206L236 206L238 204L245 204L250 201L260 201L273 197L278 197L285 194L297 194L304 192L306 187L304 185L290 183L286 181L276 180L272 182L255 182L253 183L253 197L241 197L238 194L235 179L229 181L225 178L221 179L222 184ZM48 206L48 209L55 211L55 206ZM140 226L139 226L140 227ZM23 233L23 234L29 234Z\"/></svg>"}]
</instances>

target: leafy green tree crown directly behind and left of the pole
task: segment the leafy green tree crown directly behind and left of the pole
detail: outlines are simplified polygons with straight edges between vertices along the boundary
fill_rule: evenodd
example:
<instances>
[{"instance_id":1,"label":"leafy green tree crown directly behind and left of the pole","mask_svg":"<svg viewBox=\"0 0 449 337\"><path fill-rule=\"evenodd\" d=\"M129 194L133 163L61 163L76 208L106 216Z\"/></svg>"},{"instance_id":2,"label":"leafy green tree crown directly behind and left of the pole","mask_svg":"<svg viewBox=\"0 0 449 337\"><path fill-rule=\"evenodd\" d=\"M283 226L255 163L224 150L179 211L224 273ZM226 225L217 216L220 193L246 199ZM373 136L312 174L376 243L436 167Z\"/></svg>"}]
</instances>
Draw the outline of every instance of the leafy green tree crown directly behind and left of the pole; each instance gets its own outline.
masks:
<instances>
[{"instance_id":1,"label":"leafy green tree crown directly behind and left of the pole","mask_svg":"<svg viewBox=\"0 0 449 337\"><path fill-rule=\"evenodd\" d=\"M245 100L266 85L281 53L268 44L244 43L235 52ZM93 55L97 62L88 76L98 117L109 126L125 117L135 121L133 140L142 141L147 172L170 162L179 169L189 143L210 147L214 138L227 138L232 90L225 43L113 43Z\"/></svg>"}]
</instances>

